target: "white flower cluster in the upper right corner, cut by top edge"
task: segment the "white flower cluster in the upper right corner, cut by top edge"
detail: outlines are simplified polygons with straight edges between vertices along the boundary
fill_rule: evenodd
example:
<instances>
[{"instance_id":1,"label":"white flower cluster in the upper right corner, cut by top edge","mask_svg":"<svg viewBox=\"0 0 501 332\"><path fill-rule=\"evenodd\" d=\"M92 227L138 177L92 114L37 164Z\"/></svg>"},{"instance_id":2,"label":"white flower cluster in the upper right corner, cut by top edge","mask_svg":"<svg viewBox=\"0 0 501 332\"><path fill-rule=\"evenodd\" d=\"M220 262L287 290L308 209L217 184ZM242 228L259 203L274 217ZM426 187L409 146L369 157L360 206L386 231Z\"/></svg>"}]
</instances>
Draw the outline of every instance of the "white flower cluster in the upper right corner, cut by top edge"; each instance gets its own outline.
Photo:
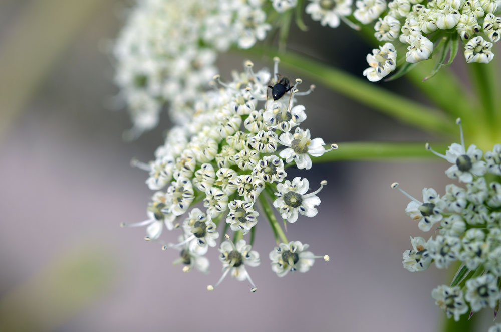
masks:
<instances>
[{"instance_id":1,"label":"white flower cluster in the upper right corner, cut by top edge","mask_svg":"<svg viewBox=\"0 0 501 332\"><path fill-rule=\"evenodd\" d=\"M495 16L500 9L499 0L357 0L352 11L352 0L310 0L306 13L332 28L343 21L359 29L346 18L352 13L361 24L374 24L374 36L386 42L367 56L370 67L364 76L374 82L395 70L395 41L407 48L408 63L430 58L433 44L442 38L448 42L461 38L468 63L490 62L494 58L493 43L501 39L501 17ZM457 34L451 35L451 31Z\"/></svg>"}]
</instances>

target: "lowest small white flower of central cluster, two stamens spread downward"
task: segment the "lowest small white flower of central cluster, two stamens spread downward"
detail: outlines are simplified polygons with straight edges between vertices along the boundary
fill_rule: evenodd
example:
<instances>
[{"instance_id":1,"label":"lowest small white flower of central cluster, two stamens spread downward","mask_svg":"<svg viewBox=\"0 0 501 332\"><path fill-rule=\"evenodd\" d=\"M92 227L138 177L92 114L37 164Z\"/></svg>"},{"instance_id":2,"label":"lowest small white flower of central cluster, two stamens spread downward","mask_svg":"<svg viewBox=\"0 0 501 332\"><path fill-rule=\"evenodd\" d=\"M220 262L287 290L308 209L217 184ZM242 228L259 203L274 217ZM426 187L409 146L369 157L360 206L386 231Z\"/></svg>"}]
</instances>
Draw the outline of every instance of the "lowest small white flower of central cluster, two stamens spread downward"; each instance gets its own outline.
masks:
<instances>
[{"instance_id":1,"label":"lowest small white flower of central cluster, two stamens spread downward","mask_svg":"<svg viewBox=\"0 0 501 332\"><path fill-rule=\"evenodd\" d=\"M233 242L229 241L228 235L225 235L225 238L228 241L221 243L221 247L219 248L219 252L221 253L219 255L219 260L222 263L223 274L214 287L217 287L224 280L226 275L230 273L231 276L238 281L247 279L253 286L250 291L255 292L257 290L256 285L245 269L245 265L250 267L258 266L261 263L259 253L255 250L251 250L252 246L248 245L243 239L233 244ZM209 285L207 289L213 290L214 287Z\"/></svg>"}]
</instances>

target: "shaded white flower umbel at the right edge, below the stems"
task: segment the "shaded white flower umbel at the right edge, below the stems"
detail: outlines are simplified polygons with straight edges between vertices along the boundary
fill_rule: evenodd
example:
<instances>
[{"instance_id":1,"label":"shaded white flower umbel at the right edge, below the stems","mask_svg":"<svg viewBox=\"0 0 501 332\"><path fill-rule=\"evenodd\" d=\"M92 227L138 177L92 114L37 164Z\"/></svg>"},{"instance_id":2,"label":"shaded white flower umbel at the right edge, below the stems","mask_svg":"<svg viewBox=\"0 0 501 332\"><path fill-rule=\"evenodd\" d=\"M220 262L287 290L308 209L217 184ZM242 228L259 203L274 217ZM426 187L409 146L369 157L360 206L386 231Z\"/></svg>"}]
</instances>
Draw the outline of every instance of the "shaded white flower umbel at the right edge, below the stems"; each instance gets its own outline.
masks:
<instances>
[{"instance_id":1,"label":"shaded white flower umbel at the right edge, below the stems","mask_svg":"<svg viewBox=\"0 0 501 332\"><path fill-rule=\"evenodd\" d=\"M411 237L412 249L403 255L403 266L411 272L424 271L432 263L439 269L452 263L461 263L452 284L440 285L431 295L447 317L457 321L462 314L494 309L497 315L501 292L501 184L484 176L501 175L501 144L492 151L483 152L475 145L467 149L461 128L461 143L453 143L444 154L426 149L452 163L445 171L451 179L464 183L461 187L449 184L440 196L432 188L423 189L422 201L400 189L411 202L405 212L424 232L435 230L428 240ZM483 158L482 158L483 156ZM499 324L489 329L499 330Z\"/></svg>"}]
</instances>

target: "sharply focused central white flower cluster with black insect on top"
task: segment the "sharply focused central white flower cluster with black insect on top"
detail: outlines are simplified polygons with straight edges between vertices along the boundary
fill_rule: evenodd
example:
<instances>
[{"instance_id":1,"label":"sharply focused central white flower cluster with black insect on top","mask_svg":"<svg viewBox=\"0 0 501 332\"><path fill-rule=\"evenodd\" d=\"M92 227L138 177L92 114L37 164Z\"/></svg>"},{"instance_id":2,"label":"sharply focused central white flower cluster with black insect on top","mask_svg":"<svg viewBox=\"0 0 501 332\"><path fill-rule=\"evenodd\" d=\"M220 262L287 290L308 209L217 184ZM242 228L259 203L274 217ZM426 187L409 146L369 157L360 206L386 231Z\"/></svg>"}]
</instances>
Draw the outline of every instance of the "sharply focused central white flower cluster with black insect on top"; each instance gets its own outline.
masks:
<instances>
[{"instance_id":1,"label":"sharply focused central white flower cluster with black insect on top","mask_svg":"<svg viewBox=\"0 0 501 332\"><path fill-rule=\"evenodd\" d=\"M148 219L123 226L147 226L149 241L160 241L164 228L180 228L179 243L161 242L164 249L180 250L176 262L184 263L185 271L192 267L207 271L204 255L208 247L216 246L218 227L224 229L222 234L227 228L235 232L235 243L226 236L219 249L223 276L216 286L230 273L238 280L249 280L256 290L245 266L260 263L250 245L263 216L277 243L279 238L283 242L270 253L272 269L279 276L288 271L306 272L319 257L328 260L328 256L306 251L307 244L287 241L273 212L272 205L284 223L296 222L299 215L316 216L317 194L327 182L322 181L312 192L306 178L287 180L286 168L295 165L308 170L311 156L337 148L332 144L325 149L322 138L312 139L310 130L301 127L306 112L303 105L295 105L296 97L309 94L314 86L299 92L301 80L292 84L281 76L279 59L274 60L273 76L266 69L255 73L250 61L229 83L216 75L221 88L198 95L191 120L169 131L155 152L156 159L148 164L133 162L149 172L146 184L157 192L148 206ZM161 191L164 187L166 191ZM204 209L193 208L198 202L203 202ZM243 240L247 234L250 244Z\"/></svg>"}]
</instances>

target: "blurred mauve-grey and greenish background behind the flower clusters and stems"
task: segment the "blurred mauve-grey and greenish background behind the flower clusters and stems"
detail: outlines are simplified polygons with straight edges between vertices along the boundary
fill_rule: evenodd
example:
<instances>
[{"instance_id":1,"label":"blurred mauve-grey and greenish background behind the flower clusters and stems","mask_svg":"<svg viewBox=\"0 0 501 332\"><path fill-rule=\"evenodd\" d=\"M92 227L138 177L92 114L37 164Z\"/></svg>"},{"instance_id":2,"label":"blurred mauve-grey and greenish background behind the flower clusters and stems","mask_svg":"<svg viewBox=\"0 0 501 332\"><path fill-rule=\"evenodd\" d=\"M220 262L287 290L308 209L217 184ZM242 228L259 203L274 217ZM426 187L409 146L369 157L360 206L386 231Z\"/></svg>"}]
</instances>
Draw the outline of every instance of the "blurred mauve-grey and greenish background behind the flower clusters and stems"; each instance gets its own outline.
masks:
<instances>
[{"instance_id":1,"label":"blurred mauve-grey and greenish background behind the flower clusters and stems","mask_svg":"<svg viewBox=\"0 0 501 332\"><path fill-rule=\"evenodd\" d=\"M278 278L268 262L272 232L260 226L262 264L249 271L255 294L230 278L206 291L220 277L215 250L208 276L183 273L172 266L177 251L146 243L142 228L119 227L145 219L151 196L147 174L130 159L153 158L170 126L164 114L156 130L126 143L128 115L108 106L118 90L105 50L127 6L0 0L0 330L435 330L444 314L431 290L450 276L402 267L409 236L429 234L405 215L408 200L390 183L417 198L423 187L442 193L447 166L438 159L338 162L301 172L313 187L323 179L329 185L319 194L318 216L300 217L287 236L331 260ZM343 26L305 19L310 31L293 28L288 47L361 76L371 47ZM241 53L221 56L222 77L243 60ZM421 98L404 80L380 85ZM312 136L326 142L437 139L321 86L302 103Z\"/></svg>"}]
</instances>

